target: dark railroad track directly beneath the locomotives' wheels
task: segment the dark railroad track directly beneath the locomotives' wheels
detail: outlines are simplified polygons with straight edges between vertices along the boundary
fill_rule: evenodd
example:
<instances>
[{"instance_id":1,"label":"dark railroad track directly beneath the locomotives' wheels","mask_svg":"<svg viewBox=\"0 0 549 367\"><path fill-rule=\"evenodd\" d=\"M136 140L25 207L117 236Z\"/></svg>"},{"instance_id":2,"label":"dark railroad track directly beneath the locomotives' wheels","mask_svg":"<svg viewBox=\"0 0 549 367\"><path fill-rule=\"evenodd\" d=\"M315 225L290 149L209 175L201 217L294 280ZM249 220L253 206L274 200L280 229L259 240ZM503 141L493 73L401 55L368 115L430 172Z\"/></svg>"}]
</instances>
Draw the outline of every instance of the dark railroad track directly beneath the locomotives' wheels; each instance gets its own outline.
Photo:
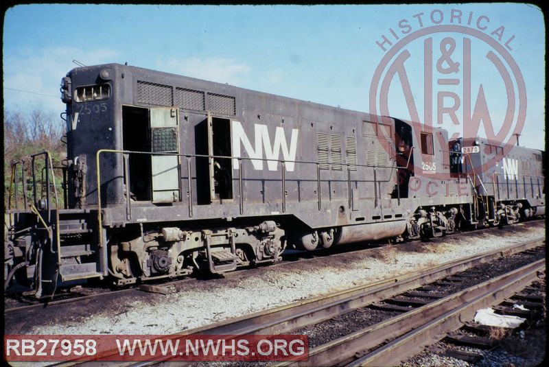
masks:
<instances>
[{"instance_id":1,"label":"dark railroad track directly beneath the locomotives' wheels","mask_svg":"<svg viewBox=\"0 0 549 367\"><path fill-rule=\"evenodd\" d=\"M528 223L535 223L538 222L538 220L532 220ZM487 228L484 229L485 231L491 231L491 230L498 230L498 228ZM471 233L475 233L475 231ZM479 232L479 233L484 233ZM460 233L454 233L452 235L447 235L447 237L452 237L459 235ZM444 239L445 237L441 237L441 239ZM439 238L434 239L439 240ZM413 240L408 241L408 244L412 244L415 242L419 242L421 240ZM372 244L371 248L377 248L379 246L384 246L383 244ZM398 244L395 246L399 246ZM362 249L364 250L364 247L360 247L360 245L349 245L349 246L341 246L340 248L334 248L331 250L316 250L314 252L308 252L308 251L296 251L296 252L290 252L288 254L283 255L283 261L280 261L279 263L275 263L270 265L270 267L277 267L280 265L284 265L288 262L294 262L294 261L308 261L312 259L316 259L317 257L325 257L332 254L339 254L339 253L345 253L345 252L352 252L354 250ZM240 270L235 270L234 272L229 273L230 274L237 274L239 272L245 272L248 271L248 268L242 268ZM67 303L78 303L80 301L90 301L93 298L110 298L110 297L117 297L117 296L139 296L141 294L141 291L145 292L156 292L161 294L167 294L169 293L169 288L174 287L177 285L181 285L183 283L187 283L190 281L196 281L194 277L187 277L184 279L176 279L172 281L163 281L162 283L145 283L142 285L136 285L134 287L124 288L124 289L109 289L108 287L100 287L100 288L91 288L89 289L91 294L86 294L84 296L79 296L80 292L77 290L74 293L65 292L61 294L56 294L56 298L54 299L43 299L43 300L36 300L32 298L21 298L20 300L16 300L16 302L22 303L23 305L16 305L12 306L9 303L6 303L6 300L8 302L14 301L14 299L5 298L4 303L4 314L12 314L17 313L19 311L32 311L34 309L42 309L44 307L56 307L58 305L66 305Z\"/></svg>"}]
</instances>

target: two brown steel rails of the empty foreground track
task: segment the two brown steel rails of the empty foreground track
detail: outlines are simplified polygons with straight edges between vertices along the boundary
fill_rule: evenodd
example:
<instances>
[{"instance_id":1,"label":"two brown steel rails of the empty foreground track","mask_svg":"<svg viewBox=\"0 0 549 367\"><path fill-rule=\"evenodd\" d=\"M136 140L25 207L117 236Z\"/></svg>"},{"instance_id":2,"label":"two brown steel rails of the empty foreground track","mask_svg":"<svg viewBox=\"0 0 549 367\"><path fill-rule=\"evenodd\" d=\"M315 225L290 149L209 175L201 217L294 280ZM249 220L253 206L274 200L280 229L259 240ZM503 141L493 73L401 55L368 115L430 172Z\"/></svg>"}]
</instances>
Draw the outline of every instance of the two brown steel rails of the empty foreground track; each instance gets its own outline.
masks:
<instances>
[{"instance_id":1,"label":"two brown steel rails of the empty foreground track","mask_svg":"<svg viewBox=\"0 0 549 367\"><path fill-rule=\"evenodd\" d=\"M344 316L363 307L374 306L390 309L397 315L309 348L307 361L284 362L279 366L395 365L410 357L410 353L419 352L425 345L440 340L445 333L462 327L465 320L474 316L476 309L496 305L519 292L537 279L540 272L544 272L545 260L539 259L493 279L482 283L477 281L475 285L461 287L462 289L457 291L454 289L452 292L445 292L446 294L440 289L434 289L435 285L455 288L460 280L467 283L467 279L474 278L458 276L457 273L519 252L525 257L535 255L536 252L544 253L544 245L545 239L526 241L497 251L444 263L427 272L413 272L360 285L327 296L224 320L185 331L184 334L288 334L296 331L299 333L299 330L311 325ZM408 307L403 306L406 304L406 300L402 300L403 295L411 298L408 299ZM417 298L429 300L419 302ZM178 337L180 334L174 335L173 338ZM113 354L115 353L117 351L113 351ZM150 363L140 362L137 366L152 365L169 359L170 357L164 357Z\"/></svg>"}]
</instances>

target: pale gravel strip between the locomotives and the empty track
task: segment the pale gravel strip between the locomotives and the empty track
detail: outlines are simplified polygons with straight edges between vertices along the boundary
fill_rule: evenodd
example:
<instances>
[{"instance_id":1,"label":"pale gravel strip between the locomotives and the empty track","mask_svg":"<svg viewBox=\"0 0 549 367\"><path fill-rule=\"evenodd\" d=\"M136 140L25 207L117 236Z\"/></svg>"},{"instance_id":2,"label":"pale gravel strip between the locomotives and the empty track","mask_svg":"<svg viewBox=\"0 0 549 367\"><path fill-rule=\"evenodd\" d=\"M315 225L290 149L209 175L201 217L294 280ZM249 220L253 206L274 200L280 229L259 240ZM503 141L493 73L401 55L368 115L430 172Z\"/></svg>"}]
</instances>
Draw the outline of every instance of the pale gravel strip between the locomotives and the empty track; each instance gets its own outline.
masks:
<instances>
[{"instance_id":1,"label":"pale gravel strip between the locomotives and the empty track","mask_svg":"<svg viewBox=\"0 0 549 367\"><path fill-rule=\"evenodd\" d=\"M544 222L462 233L429 242L397 244L314 257L244 272L221 279L192 280L171 287L171 294L121 297L82 309L67 304L55 318L6 325L5 333L170 334L211 322L287 305L338 289L386 279L545 237Z\"/></svg>"}]
</instances>

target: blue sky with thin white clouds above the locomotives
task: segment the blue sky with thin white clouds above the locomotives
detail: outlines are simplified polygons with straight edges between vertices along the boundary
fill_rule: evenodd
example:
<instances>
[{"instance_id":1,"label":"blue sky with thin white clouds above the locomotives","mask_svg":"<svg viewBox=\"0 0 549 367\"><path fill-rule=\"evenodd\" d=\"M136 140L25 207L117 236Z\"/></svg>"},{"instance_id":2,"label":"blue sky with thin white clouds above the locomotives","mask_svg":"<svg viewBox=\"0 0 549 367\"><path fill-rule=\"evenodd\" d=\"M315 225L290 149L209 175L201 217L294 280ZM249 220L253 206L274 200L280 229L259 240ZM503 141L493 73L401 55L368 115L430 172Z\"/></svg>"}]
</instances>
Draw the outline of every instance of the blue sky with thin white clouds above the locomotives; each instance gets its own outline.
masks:
<instances>
[{"instance_id":1,"label":"blue sky with thin white clouds above the locomotives","mask_svg":"<svg viewBox=\"0 0 549 367\"><path fill-rule=\"evenodd\" d=\"M229 83L312 102L368 112L373 75L388 51L375 41L382 35L399 38L399 22L407 20L411 33L450 23L452 10L463 14L464 27L479 30L504 47L519 67L526 86L526 122L521 145L543 149L545 129L545 28L538 8L526 4L445 5L17 5L5 12L3 29L4 108L27 110L40 107L56 115L64 110L59 99L60 79L83 64L119 62L158 69L195 78ZM469 14L471 25L467 25ZM421 16L423 27L417 21ZM499 27L498 34L491 34ZM456 40L452 60L463 62L463 34L434 34L433 68L441 57L445 37ZM406 71L412 95L423 119L423 50L425 37L404 47L410 52ZM482 84L489 115L496 130L506 109L504 80L486 58L494 51L487 43L471 40L471 94L475 104ZM500 54L496 54L504 60ZM391 61L392 62L392 61ZM389 64L391 63L389 62ZM508 68L508 70L510 70ZM463 79L460 70L456 78ZM513 79L513 78L512 78ZM513 90L517 93L516 82ZM460 99L458 119L463 119L463 90L460 86L433 87L437 93L450 91ZM14 91L19 89L33 93ZM445 106L452 104L445 99ZM394 78L388 90L390 115L410 119L401 82ZM436 110L434 111L436 119ZM515 117L517 107L515 107ZM436 121L435 121L436 123ZM450 131L463 130L443 116L440 125ZM482 136L484 132L480 131ZM508 136L509 137L509 136Z\"/></svg>"}]
</instances>

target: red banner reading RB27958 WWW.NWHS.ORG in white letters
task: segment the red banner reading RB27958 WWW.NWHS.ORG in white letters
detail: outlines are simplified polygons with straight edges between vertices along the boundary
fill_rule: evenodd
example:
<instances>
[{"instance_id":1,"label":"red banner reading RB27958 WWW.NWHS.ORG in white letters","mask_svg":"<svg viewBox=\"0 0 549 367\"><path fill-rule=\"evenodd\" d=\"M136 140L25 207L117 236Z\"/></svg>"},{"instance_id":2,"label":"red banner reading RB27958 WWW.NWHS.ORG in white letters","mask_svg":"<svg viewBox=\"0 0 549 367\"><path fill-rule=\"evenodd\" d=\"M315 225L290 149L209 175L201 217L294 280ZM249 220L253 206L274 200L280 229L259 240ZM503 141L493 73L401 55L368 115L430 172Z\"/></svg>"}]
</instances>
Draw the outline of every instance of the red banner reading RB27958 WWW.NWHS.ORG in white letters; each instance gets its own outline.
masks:
<instances>
[{"instance_id":1,"label":"red banner reading RB27958 WWW.NWHS.ORG in white letters","mask_svg":"<svg viewBox=\"0 0 549 367\"><path fill-rule=\"evenodd\" d=\"M7 361L284 361L308 358L306 335L5 335Z\"/></svg>"}]
</instances>

